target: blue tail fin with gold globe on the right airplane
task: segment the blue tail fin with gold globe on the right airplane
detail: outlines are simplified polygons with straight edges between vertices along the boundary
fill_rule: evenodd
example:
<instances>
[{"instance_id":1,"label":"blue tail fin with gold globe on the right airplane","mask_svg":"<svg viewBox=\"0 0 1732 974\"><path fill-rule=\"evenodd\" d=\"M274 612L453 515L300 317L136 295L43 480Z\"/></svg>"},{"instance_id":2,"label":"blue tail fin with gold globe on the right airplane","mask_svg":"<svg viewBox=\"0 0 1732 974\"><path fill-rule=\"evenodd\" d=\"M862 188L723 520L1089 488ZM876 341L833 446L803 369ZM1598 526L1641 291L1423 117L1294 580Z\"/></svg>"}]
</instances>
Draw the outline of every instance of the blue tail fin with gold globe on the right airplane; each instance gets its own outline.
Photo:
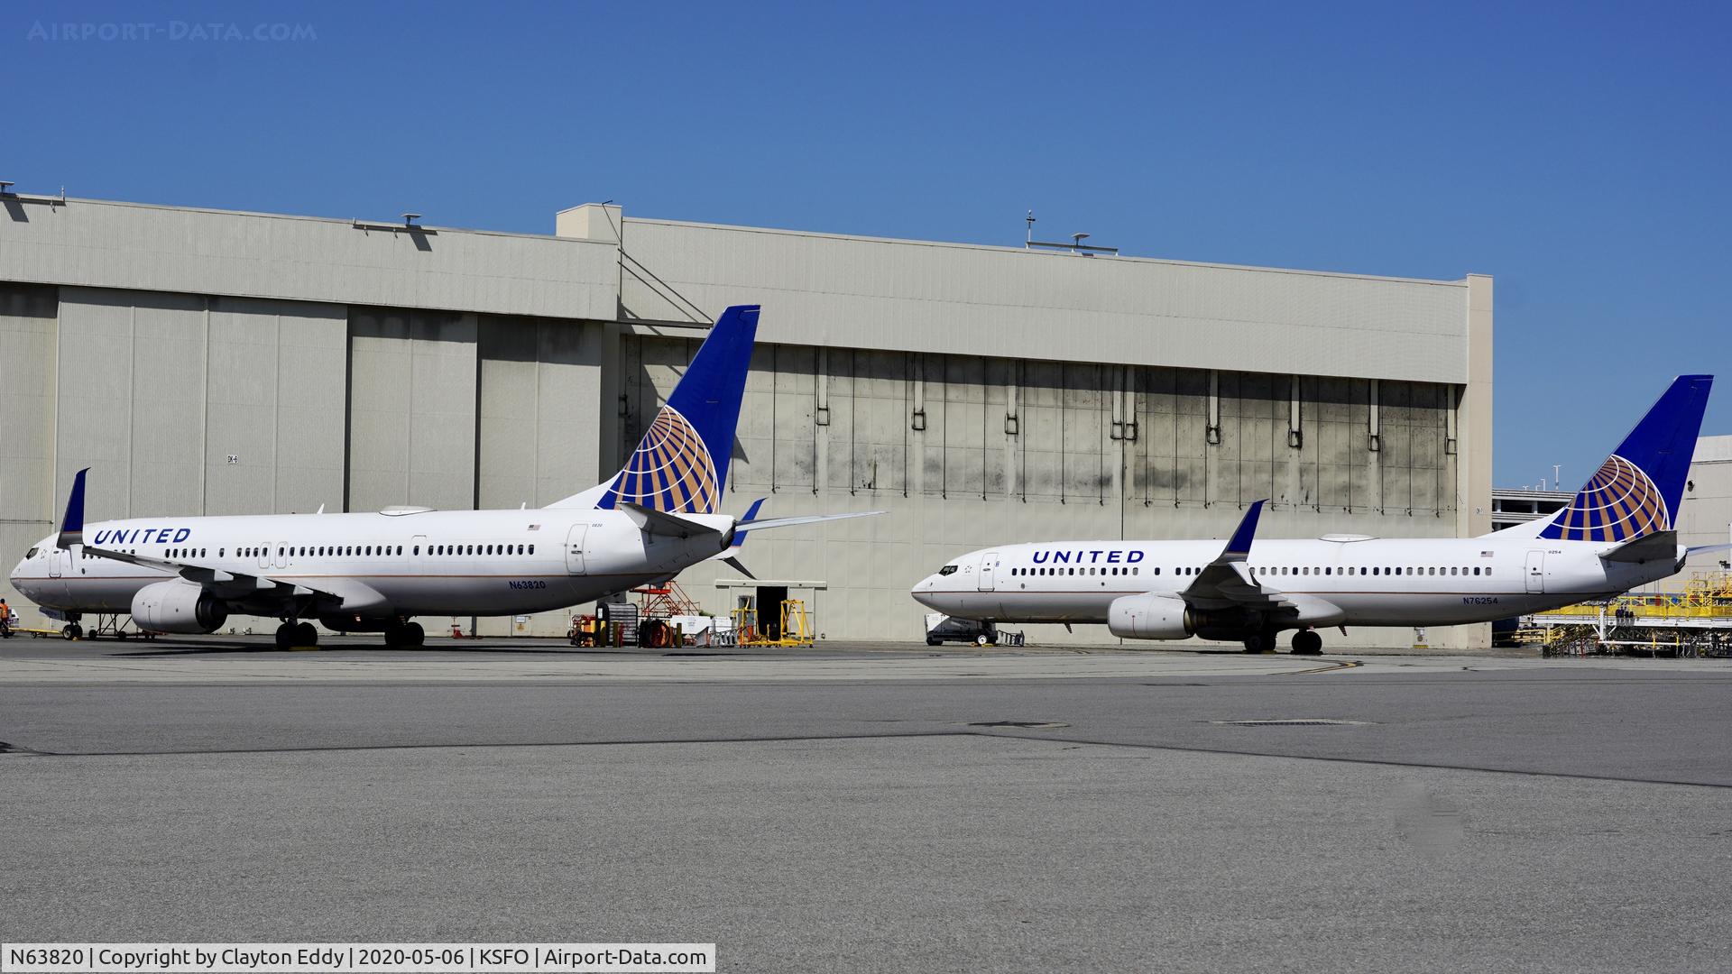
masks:
<instances>
[{"instance_id":1,"label":"blue tail fin with gold globe on the right airplane","mask_svg":"<svg viewBox=\"0 0 1732 974\"><path fill-rule=\"evenodd\" d=\"M1671 530L1713 376L1678 376L1540 532L1559 541L1630 541Z\"/></svg>"}]
</instances>

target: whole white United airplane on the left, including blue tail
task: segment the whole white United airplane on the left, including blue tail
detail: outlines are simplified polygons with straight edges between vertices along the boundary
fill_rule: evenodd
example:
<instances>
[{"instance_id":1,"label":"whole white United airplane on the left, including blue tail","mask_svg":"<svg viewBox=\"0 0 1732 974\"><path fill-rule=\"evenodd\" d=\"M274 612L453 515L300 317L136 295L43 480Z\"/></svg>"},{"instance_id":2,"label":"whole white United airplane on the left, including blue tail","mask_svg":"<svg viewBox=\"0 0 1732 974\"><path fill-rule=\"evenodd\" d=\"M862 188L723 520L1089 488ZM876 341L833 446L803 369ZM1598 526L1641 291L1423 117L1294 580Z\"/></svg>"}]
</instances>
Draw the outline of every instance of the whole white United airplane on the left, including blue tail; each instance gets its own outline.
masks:
<instances>
[{"instance_id":1,"label":"whole white United airplane on the left, including blue tail","mask_svg":"<svg viewBox=\"0 0 1732 974\"><path fill-rule=\"evenodd\" d=\"M85 612L132 614L154 633L211 633L230 614L281 619L279 646L327 629L421 645L414 615L516 615L738 562L748 530L883 511L753 520L717 513L757 305L715 321L625 468L539 510L132 518L83 523L80 470L57 536L12 568L12 588L81 636Z\"/></svg>"}]
</instances>

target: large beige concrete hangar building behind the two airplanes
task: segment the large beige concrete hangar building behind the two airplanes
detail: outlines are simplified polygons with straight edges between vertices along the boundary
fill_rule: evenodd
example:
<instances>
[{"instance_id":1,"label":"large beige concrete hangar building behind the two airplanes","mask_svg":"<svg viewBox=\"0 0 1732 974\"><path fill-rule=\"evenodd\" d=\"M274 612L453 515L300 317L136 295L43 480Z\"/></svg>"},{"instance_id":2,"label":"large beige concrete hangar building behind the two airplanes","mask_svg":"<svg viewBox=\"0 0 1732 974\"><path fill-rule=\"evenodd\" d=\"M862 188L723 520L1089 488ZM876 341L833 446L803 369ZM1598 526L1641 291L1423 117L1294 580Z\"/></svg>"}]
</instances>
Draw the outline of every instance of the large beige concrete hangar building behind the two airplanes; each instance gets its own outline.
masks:
<instances>
[{"instance_id":1,"label":"large beige concrete hangar building behind the two airplanes","mask_svg":"<svg viewBox=\"0 0 1732 974\"><path fill-rule=\"evenodd\" d=\"M535 236L0 203L9 565L52 530L83 466L92 520L553 503L618 470L729 303L764 315L727 508L762 496L774 515L889 511L746 544L766 582L821 586L802 594L833 640L920 638L908 588L999 541L1225 537L1263 497L1271 537L1491 525L1490 277L724 227L608 205ZM719 563L681 582L710 612L741 591ZM518 631L568 624L549 614ZM1031 638L1110 641L1105 627Z\"/></svg>"}]
</instances>

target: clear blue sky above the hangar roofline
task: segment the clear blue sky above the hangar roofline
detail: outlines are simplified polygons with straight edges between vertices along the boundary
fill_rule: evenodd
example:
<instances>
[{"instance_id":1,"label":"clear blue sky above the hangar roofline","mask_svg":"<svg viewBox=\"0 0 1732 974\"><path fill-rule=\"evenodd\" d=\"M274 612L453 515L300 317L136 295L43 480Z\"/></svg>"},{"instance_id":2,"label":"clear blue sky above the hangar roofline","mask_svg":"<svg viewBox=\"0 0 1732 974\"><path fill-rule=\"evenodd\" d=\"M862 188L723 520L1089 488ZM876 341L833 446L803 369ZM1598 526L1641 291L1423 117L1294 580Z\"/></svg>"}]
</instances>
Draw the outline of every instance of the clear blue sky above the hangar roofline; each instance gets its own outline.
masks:
<instances>
[{"instance_id":1,"label":"clear blue sky above the hangar roofline","mask_svg":"<svg viewBox=\"0 0 1732 974\"><path fill-rule=\"evenodd\" d=\"M1670 376L1732 364L1729 10L10 3L0 179L528 232L617 199L1017 244L1034 208L1140 256L1484 272L1495 482L1574 485Z\"/></svg>"}]
</instances>

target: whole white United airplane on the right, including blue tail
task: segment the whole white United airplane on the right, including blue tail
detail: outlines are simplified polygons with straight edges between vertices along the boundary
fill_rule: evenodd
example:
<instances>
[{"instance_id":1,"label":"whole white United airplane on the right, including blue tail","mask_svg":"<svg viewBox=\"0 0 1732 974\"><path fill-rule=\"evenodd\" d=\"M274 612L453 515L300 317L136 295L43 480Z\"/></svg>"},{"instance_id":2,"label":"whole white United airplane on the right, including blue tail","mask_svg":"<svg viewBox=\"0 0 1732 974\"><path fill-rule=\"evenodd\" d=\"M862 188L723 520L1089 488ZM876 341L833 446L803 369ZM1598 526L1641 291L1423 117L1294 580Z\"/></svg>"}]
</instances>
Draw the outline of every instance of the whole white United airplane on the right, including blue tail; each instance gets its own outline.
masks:
<instances>
[{"instance_id":1,"label":"whole white United airplane on the right, including blue tail","mask_svg":"<svg viewBox=\"0 0 1732 974\"><path fill-rule=\"evenodd\" d=\"M1325 626L1457 626L1607 598L1684 568L1673 530L1713 376L1680 376L1555 516L1481 537L1057 541L970 551L916 601L980 622L1105 622L1129 640L1320 653Z\"/></svg>"}]
</instances>

